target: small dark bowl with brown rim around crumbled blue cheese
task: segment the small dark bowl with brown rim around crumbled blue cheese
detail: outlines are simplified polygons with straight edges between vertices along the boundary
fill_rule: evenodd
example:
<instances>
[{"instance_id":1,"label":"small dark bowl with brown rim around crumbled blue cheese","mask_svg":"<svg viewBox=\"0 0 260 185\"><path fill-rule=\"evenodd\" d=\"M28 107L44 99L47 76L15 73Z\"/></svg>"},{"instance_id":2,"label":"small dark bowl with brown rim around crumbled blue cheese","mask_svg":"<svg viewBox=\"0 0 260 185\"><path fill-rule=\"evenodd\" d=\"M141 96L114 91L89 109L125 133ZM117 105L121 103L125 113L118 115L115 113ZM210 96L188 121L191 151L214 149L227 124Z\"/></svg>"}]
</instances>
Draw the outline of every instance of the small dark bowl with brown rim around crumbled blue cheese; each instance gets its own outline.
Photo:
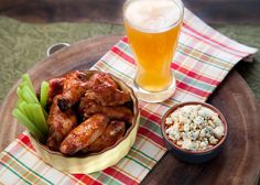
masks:
<instances>
[{"instance_id":1,"label":"small dark bowl with brown rim around crumbled blue cheese","mask_svg":"<svg viewBox=\"0 0 260 185\"><path fill-rule=\"evenodd\" d=\"M188 106L188 105L189 106L202 105L203 107L209 108L210 110L216 112L218 115L219 119L221 120L224 128L225 128L225 134L221 138L221 140L213 148L207 149L207 150L203 150L203 151L185 150L185 149L180 148L173 141L171 141L169 139L167 134L165 133L166 118L172 112L174 112L177 108ZM221 112L218 109L216 109L215 107L213 107L206 102L188 101L188 102L178 104L167 110L167 112L163 116L162 121L161 121L161 131L162 131L167 150L170 150L173 153L173 155L175 155L178 160L181 160L183 162L188 162L188 163L204 163L204 162L207 162L207 161L214 159L215 156L217 156L217 154L221 151L223 145L224 145L225 141L227 140L228 126L227 126L227 121L224 118L224 116L221 115Z\"/></svg>"}]
</instances>

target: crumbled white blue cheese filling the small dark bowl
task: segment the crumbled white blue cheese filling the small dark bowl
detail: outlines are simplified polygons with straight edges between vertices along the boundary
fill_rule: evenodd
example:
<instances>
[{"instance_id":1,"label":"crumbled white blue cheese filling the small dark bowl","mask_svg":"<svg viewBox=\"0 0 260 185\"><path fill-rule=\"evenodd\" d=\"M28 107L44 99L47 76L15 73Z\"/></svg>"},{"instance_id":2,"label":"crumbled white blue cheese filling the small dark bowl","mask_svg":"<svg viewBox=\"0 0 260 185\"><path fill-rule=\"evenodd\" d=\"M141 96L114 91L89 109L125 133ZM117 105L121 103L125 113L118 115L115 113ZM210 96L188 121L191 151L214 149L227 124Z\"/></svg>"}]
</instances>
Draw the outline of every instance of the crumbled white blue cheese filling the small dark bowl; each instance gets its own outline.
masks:
<instances>
[{"instance_id":1,"label":"crumbled white blue cheese filling the small dark bowl","mask_svg":"<svg viewBox=\"0 0 260 185\"><path fill-rule=\"evenodd\" d=\"M210 149L225 134L218 113L201 105L176 109L165 119L165 126L169 139L191 151Z\"/></svg>"}]
</instances>

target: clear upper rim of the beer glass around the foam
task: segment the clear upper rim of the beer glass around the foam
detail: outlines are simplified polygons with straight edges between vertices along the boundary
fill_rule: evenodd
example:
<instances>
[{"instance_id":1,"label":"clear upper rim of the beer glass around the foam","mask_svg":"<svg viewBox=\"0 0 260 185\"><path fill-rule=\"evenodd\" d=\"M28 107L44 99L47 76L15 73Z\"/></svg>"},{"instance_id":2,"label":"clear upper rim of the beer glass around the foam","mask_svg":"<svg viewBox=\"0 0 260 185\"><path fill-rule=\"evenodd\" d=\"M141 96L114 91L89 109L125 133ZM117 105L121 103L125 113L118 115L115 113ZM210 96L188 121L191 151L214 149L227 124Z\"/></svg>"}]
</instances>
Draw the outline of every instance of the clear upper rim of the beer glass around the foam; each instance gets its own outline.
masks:
<instances>
[{"instance_id":1,"label":"clear upper rim of the beer glass around the foam","mask_svg":"<svg viewBox=\"0 0 260 185\"><path fill-rule=\"evenodd\" d=\"M161 32L165 32L167 30L171 30L172 28L175 28L182 20L183 20L183 17L184 17L184 4L183 4L183 1L182 0L171 0L171 1L174 1L177 7L180 7L180 10L181 10L181 13L180 13L180 18L177 21L173 22L172 24L167 25L167 26L162 26L160 29L144 29L144 28L141 28L141 26L138 26L138 25L134 25L133 23L131 23L131 21L129 21L127 18L126 18L126 10L128 8L128 6L133 2L133 1L138 1L138 0L127 0L124 3L123 3L123 21L127 21L128 24L130 24L132 28L141 31L141 32L145 32L145 33L161 33ZM177 3L177 1L180 3Z\"/></svg>"}]
</instances>

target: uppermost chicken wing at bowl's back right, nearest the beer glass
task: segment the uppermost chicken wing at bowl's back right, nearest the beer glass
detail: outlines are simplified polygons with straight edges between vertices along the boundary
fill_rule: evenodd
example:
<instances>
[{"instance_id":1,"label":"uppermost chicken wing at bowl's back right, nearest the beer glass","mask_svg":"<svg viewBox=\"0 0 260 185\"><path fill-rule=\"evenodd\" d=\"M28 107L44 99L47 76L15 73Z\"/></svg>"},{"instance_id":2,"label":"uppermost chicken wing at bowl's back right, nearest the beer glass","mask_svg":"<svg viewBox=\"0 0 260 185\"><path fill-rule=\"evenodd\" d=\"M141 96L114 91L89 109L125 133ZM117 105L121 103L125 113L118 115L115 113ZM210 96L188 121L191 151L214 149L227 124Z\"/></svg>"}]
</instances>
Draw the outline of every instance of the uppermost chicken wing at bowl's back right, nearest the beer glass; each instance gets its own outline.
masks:
<instances>
[{"instance_id":1,"label":"uppermost chicken wing at bowl's back right, nearest the beer glass","mask_svg":"<svg viewBox=\"0 0 260 185\"><path fill-rule=\"evenodd\" d=\"M86 91L85 97L86 99L94 100L101 106L119 106L131 100L128 92L107 85L93 87Z\"/></svg>"}]
</instances>

